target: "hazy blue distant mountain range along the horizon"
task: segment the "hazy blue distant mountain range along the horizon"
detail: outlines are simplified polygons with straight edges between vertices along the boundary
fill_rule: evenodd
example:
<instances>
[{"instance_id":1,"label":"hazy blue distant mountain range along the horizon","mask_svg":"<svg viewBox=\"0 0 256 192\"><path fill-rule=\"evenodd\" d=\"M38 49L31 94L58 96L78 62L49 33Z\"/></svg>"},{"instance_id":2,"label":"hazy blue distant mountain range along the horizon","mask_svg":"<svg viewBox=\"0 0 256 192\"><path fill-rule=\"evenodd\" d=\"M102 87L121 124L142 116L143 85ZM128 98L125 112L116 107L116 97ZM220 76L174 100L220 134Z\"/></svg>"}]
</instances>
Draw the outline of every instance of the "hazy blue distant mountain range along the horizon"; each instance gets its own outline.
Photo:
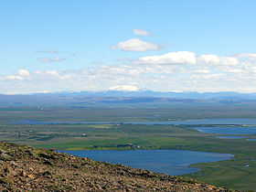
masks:
<instances>
[{"instance_id":1,"label":"hazy blue distant mountain range along the horizon","mask_svg":"<svg viewBox=\"0 0 256 192\"><path fill-rule=\"evenodd\" d=\"M33 94L0 94L0 106L174 106L174 105L256 104L256 93L239 92L161 92L161 91L62 91Z\"/></svg>"}]
</instances>

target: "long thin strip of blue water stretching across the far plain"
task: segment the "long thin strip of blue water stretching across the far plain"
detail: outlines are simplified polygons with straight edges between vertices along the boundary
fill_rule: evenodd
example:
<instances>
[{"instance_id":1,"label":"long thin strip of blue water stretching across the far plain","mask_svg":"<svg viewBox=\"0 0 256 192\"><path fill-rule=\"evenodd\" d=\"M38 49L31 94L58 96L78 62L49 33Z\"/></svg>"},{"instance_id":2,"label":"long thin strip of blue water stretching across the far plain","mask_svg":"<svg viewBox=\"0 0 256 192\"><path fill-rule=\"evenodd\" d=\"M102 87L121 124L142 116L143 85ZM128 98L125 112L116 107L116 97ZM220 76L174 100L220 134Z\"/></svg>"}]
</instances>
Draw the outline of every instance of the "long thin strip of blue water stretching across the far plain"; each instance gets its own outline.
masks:
<instances>
[{"instance_id":1,"label":"long thin strip of blue water stretching across the far plain","mask_svg":"<svg viewBox=\"0 0 256 192\"><path fill-rule=\"evenodd\" d=\"M111 124L111 123L131 123L131 124L250 124L256 125L256 119L198 119L198 120L183 120L183 121L161 121L161 122L37 122L33 120L21 120L15 122L17 124L59 124L59 123L81 123L81 124Z\"/></svg>"}]
</instances>

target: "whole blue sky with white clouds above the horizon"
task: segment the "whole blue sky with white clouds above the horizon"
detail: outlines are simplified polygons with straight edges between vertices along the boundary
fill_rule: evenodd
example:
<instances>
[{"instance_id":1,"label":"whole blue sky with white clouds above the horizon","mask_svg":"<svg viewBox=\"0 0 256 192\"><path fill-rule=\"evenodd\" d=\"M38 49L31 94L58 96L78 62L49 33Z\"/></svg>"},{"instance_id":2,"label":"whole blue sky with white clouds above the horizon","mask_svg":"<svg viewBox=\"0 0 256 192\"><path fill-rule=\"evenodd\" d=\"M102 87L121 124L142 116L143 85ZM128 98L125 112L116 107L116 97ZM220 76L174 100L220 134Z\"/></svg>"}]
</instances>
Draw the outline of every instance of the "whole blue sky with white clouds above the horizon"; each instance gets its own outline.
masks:
<instances>
[{"instance_id":1,"label":"whole blue sky with white clouds above the horizon","mask_svg":"<svg viewBox=\"0 0 256 192\"><path fill-rule=\"evenodd\" d=\"M0 0L0 93L256 92L254 0Z\"/></svg>"}]
</instances>

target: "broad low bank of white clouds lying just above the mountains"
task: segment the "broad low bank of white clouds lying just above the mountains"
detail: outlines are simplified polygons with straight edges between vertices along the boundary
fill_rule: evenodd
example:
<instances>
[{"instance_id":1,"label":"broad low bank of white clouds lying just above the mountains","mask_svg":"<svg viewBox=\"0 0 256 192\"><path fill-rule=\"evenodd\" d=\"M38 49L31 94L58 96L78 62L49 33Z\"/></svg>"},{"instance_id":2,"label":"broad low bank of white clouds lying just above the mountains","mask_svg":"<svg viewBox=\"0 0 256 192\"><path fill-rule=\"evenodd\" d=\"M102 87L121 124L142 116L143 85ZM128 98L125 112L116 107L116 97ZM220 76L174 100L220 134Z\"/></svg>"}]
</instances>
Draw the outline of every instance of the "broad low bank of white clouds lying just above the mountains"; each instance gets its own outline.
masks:
<instances>
[{"instance_id":1,"label":"broad low bank of white clouds lying just above the mountains","mask_svg":"<svg viewBox=\"0 0 256 192\"><path fill-rule=\"evenodd\" d=\"M256 92L255 53L235 56L169 52L126 64L80 70L20 69L0 76L1 93L48 91L240 91ZM128 61L127 61L128 62Z\"/></svg>"}]
</instances>

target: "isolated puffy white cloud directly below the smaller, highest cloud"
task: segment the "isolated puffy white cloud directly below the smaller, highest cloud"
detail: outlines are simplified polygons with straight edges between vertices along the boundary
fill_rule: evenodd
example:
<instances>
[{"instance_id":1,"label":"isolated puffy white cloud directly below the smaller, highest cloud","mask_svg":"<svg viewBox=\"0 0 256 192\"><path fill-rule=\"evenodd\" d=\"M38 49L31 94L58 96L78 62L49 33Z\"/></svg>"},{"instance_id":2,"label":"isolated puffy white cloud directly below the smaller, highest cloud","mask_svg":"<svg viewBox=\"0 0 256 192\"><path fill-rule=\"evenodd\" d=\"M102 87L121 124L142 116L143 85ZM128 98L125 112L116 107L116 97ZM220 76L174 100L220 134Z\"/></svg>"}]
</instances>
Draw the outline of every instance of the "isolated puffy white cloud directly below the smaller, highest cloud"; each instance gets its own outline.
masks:
<instances>
[{"instance_id":1,"label":"isolated puffy white cloud directly below the smaller, highest cloud","mask_svg":"<svg viewBox=\"0 0 256 192\"><path fill-rule=\"evenodd\" d=\"M123 51L148 51L158 50L159 47L156 44L145 42L139 38L131 38L118 42L117 45L112 46L112 49L121 49Z\"/></svg>"}]
</instances>

